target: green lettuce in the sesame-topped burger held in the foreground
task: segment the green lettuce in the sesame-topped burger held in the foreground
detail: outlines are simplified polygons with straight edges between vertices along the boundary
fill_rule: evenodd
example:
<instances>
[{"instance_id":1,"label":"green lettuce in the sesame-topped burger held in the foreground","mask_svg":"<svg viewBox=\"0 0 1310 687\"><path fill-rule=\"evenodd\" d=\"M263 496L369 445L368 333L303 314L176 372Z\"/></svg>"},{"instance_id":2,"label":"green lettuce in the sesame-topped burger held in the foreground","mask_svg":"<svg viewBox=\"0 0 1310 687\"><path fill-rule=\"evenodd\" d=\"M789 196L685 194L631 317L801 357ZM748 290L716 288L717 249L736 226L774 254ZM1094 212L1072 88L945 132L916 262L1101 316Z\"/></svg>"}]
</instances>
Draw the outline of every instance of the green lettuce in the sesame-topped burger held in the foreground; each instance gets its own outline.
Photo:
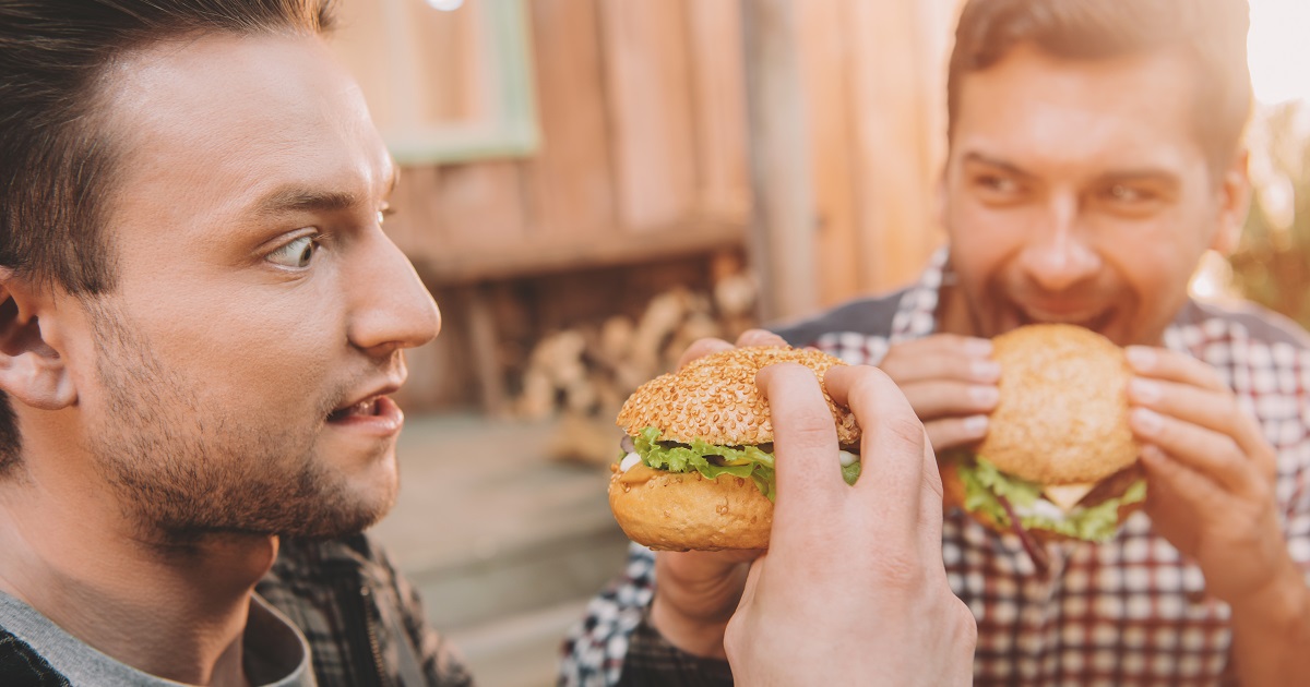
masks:
<instances>
[{"instance_id":1,"label":"green lettuce in the sesame-topped burger held in the foreground","mask_svg":"<svg viewBox=\"0 0 1310 687\"><path fill-rule=\"evenodd\" d=\"M660 442L660 431L647 427L633 437L633 445L642 462L655 470L669 472L697 471L706 479L715 479L719 475L732 475L736 478L751 478L760 493L773 501L777 496L777 480L774 479L773 453L758 446L720 446L702 440L692 440L690 444L677 444L672 441ZM707 457L715 455L719 461L710 462ZM722 465L715 465L722 463ZM859 463L842 466L841 476L846 484L854 484L859 478Z\"/></svg>"}]
</instances>

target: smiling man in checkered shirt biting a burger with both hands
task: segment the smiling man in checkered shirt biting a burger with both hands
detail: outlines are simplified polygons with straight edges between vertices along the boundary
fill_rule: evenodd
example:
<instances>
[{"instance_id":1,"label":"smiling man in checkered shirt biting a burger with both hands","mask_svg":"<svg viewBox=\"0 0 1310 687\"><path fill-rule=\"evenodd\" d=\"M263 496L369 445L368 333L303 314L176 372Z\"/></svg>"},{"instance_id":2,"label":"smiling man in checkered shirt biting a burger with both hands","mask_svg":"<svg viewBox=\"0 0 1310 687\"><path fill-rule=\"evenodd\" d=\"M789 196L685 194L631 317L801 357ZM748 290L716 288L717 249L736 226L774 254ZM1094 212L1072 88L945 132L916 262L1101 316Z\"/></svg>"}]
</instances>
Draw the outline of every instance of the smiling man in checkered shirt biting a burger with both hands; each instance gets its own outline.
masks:
<instances>
[{"instance_id":1,"label":"smiling man in checkered shirt biting a burger with both hands","mask_svg":"<svg viewBox=\"0 0 1310 687\"><path fill-rule=\"evenodd\" d=\"M1244 217L1246 29L1244 0L971 0L950 62L948 245L917 284L778 330L879 365L939 455L988 432L990 338L1062 322L1128 347L1149 496L1116 538L1048 544L1043 569L1017 534L945 516L977 684L1310 675L1310 339L1187 292ZM743 565L634 547L562 682L722 665Z\"/></svg>"}]
</instances>

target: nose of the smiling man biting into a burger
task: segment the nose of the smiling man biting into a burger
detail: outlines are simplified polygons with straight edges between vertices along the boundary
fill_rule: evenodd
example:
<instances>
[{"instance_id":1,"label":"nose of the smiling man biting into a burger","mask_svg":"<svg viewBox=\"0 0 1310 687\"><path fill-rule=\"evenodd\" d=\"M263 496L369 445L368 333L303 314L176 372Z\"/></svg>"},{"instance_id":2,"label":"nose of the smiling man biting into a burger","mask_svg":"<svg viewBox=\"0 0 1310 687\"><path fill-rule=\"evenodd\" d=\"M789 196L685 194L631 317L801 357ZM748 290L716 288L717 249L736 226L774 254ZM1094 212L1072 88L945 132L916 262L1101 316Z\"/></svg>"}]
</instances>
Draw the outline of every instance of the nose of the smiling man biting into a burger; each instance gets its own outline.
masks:
<instances>
[{"instance_id":1,"label":"nose of the smiling man biting into a burger","mask_svg":"<svg viewBox=\"0 0 1310 687\"><path fill-rule=\"evenodd\" d=\"M1049 292L1065 291L1100 271L1100 255L1077 199L1052 200L1047 220L1032 228L1019 262L1024 273Z\"/></svg>"}]
</instances>

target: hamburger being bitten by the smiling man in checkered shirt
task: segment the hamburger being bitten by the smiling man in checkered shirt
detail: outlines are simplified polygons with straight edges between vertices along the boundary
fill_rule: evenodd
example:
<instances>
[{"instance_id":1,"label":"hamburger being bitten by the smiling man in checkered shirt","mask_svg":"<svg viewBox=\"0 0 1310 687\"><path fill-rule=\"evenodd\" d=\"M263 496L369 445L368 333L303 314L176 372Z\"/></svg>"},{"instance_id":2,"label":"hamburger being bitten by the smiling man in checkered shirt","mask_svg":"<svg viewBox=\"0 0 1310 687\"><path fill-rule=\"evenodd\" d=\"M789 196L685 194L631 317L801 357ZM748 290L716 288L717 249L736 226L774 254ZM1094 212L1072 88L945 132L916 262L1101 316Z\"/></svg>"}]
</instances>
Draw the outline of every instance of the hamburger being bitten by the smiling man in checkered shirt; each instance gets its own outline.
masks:
<instances>
[{"instance_id":1,"label":"hamburger being bitten by the smiling man in checkered shirt","mask_svg":"<svg viewBox=\"0 0 1310 687\"><path fill-rule=\"evenodd\" d=\"M1128 427L1124 351L1073 325L1028 325L993 340L1001 398L988 436L941 463L948 505L1038 542L1104 542L1146 499Z\"/></svg>"}]
</instances>

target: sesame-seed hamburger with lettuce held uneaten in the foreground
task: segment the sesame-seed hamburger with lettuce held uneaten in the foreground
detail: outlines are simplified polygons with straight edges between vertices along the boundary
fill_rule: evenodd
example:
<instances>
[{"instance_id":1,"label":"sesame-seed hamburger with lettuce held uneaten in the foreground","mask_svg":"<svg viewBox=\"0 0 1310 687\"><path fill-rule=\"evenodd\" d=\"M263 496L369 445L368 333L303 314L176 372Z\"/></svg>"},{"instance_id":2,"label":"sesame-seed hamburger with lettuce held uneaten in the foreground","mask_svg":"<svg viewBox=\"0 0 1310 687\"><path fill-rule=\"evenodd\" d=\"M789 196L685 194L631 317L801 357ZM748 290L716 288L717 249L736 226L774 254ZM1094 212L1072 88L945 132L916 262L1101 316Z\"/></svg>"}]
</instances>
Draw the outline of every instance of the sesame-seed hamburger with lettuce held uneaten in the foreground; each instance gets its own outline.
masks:
<instances>
[{"instance_id":1,"label":"sesame-seed hamburger with lettuce held uneaten in the foreground","mask_svg":"<svg viewBox=\"0 0 1310 687\"><path fill-rule=\"evenodd\" d=\"M755 376L777 362L823 373L844 362L814 349L747 347L697 359L633 393L618 412L624 453L612 466L609 508L627 537L655 550L768 548L774 457L769 403ZM841 471L859 476L859 428L827 390ZM836 468L836 467L834 467Z\"/></svg>"}]
</instances>

